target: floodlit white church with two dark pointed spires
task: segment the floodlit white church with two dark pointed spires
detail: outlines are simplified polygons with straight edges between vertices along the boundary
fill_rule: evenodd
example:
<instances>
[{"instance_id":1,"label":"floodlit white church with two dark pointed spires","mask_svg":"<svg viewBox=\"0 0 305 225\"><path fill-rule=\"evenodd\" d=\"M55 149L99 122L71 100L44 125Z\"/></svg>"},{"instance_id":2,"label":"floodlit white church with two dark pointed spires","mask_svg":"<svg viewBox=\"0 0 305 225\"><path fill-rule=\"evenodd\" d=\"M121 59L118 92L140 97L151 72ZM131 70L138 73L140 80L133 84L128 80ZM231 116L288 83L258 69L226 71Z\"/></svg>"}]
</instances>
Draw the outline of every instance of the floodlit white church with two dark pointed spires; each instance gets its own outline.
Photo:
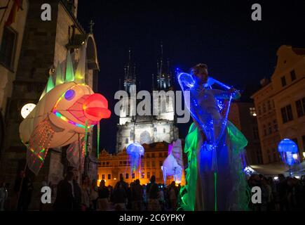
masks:
<instances>
[{"instance_id":1,"label":"floodlit white church with two dark pointed spires","mask_svg":"<svg viewBox=\"0 0 305 225\"><path fill-rule=\"evenodd\" d=\"M122 87L128 93L128 96L137 93L136 68L130 55L131 53L129 51L128 63L124 68L125 77ZM157 74L156 77L152 75L151 96L154 91L159 91L159 93L172 91L171 77L170 64L169 61L165 62L163 60L163 46L161 45L161 58L157 63ZM158 98L151 97L153 102L149 115L137 115L134 111L141 100L132 101L130 97L128 107L120 108L116 135L117 153L121 152L129 143L133 142L140 144L156 142L172 143L172 141L178 139L178 128L175 123L175 96L164 95L165 101L162 101L162 106L161 98L161 96ZM156 113L152 113L154 111L158 112L157 115Z\"/></svg>"}]
</instances>

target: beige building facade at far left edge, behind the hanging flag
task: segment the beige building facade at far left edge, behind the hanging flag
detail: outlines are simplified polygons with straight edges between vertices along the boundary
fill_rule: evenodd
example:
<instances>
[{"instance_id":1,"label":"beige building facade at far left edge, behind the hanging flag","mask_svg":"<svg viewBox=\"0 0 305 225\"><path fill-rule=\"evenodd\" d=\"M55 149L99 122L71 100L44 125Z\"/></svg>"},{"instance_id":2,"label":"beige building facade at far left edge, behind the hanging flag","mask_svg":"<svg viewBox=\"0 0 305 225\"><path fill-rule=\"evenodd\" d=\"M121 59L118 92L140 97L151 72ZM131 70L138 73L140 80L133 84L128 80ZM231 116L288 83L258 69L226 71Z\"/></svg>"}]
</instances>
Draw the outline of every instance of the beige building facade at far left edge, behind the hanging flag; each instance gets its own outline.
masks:
<instances>
[{"instance_id":1,"label":"beige building facade at far left edge, behind the hanging flag","mask_svg":"<svg viewBox=\"0 0 305 225\"><path fill-rule=\"evenodd\" d=\"M0 2L0 148L4 146L5 121L8 100L13 91L13 81L18 68L20 50L23 34L25 31L25 20L29 8L28 1L22 1L18 16L11 25L6 21L13 10L14 2L5 0ZM1 152L0 152L1 153ZM0 155L1 159L1 155Z\"/></svg>"}]
</instances>

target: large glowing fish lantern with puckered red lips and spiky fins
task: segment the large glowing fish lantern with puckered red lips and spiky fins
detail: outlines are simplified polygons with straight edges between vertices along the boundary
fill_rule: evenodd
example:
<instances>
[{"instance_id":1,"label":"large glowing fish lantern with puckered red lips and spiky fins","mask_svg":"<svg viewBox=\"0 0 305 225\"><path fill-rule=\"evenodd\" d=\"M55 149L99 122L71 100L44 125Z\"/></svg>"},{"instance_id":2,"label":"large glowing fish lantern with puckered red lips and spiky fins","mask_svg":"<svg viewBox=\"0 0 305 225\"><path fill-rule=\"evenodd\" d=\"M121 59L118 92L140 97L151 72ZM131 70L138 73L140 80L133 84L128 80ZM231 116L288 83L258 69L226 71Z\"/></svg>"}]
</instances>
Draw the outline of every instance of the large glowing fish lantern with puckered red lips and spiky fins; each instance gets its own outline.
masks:
<instances>
[{"instance_id":1,"label":"large glowing fish lantern with puckered red lips and spiky fins","mask_svg":"<svg viewBox=\"0 0 305 225\"><path fill-rule=\"evenodd\" d=\"M73 143L68 152L75 155L76 150L86 148L86 134L93 126L111 115L107 99L95 94L83 82L84 75L80 71L85 72L82 68L86 67L83 63L86 50L82 48L82 51L76 76L68 51L65 82L58 63L55 84L50 76L39 103L20 124L20 139L28 148L27 165L34 174L41 169L49 148ZM78 148L74 148L76 144ZM69 155L69 160L73 154Z\"/></svg>"}]
</instances>

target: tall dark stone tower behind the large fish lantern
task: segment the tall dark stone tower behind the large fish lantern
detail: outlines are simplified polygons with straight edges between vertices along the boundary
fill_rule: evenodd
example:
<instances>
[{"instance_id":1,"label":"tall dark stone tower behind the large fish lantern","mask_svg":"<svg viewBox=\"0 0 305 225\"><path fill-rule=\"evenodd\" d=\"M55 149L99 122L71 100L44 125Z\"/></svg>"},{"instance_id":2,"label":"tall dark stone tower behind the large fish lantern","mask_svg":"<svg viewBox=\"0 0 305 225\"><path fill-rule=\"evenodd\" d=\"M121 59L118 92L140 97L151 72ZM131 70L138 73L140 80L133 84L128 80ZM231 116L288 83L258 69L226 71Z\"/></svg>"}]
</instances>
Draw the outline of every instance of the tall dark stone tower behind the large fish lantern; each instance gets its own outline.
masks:
<instances>
[{"instance_id":1,"label":"tall dark stone tower behind the large fish lantern","mask_svg":"<svg viewBox=\"0 0 305 225\"><path fill-rule=\"evenodd\" d=\"M37 103L46 86L48 77L58 62L65 61L67 51L72 53L72 60L79 60L79 48L86 45L86 60L88 72L86 83L97 91L97 50L93 34L86 33L76 20L77 0L51 0L51 20L41 20L41 1L22 1L27 3L27 15L24 18L25 31L20 46L18 66L15 68L15 79L11 85L11 96L6 108L6 141L1 149L1 176L6 182L14 184L15 176L25 168L26 147L19 137L19 124L23 120L20 110L26 103ZM18 15L19 16L19 15ZM65 70L64 70L65 71ZM8 85L8 84L7 84ZM95 146L92 143L94 134L89 135L88 174L96 178L97 161ZM39 205L41 181L47 179L51 184L57 184L67 170L65 156L67 146L50 149L41 172L33 176L29 170L27 175L34 180L32 208ZM91 169L91 171L90 171ZM92 170L93 169L93 170ZM95 171L94 171L95 169ZM10 190L11 191L11 190ZM13 191L11 191L13 193Z\"/></svg>"}]
</instances>

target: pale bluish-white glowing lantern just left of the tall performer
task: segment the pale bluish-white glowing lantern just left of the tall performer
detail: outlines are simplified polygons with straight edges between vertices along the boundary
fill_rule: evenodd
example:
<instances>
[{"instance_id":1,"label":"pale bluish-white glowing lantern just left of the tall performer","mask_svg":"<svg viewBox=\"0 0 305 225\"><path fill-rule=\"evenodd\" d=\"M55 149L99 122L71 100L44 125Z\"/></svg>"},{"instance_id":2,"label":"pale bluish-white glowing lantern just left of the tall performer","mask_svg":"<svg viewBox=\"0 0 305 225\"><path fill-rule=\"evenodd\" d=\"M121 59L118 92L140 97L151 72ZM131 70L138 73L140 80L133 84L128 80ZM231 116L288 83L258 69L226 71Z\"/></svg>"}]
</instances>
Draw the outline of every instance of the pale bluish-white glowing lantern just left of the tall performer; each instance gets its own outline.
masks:
<instances>
[{"instance_id":1,"label":"pale bluish-white glowing lantern just left of the tall performer","mask_svg":"<svg viewBox=\"0 0 305 225\"><path fill-rule=\"evenodd\" d=\"M168 157L164 160L161 167L163 172L164 185L166 184L166 176L174 176L174 181L182 180L182 145L181 140L173 141L168 145Z\"/></svg>"}]
</instances>

